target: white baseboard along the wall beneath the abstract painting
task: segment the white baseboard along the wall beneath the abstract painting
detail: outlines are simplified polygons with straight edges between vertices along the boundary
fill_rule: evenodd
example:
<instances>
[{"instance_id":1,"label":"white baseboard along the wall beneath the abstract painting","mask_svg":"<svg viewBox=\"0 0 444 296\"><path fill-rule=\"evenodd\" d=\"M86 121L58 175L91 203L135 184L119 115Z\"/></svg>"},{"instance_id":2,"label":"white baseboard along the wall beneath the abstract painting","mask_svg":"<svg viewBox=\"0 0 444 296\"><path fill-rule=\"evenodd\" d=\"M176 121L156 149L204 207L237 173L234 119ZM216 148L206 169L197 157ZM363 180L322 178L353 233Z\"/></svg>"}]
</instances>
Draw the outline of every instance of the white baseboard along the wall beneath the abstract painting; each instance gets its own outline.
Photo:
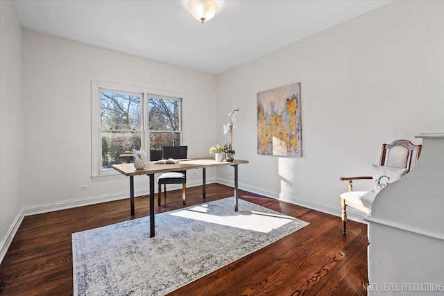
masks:
<instances>
[{"instance_id":1,"label":"white baseboard along the wall beneath the abstract painting","mask_svg":"<svg viewBox=\"0 0 444 296\"><path fill-rule=\"evenodd\" d=\"M217 183L224 184L226 186L234 186L234 182L232 180L218 178ZM342 208L338 205L334 207L330 204L324 204L321 202L314 202L313 200L307 200L305 198L300 198L298 196L293 196L285 193L280 193L278 191L271 191L268 189L262 189L256 186L251 186L247 184L239 183L239 189L264 195L267 198L274 198L276 200L282 200L284 202L289 202L291 204L296 204L300 207L307 207L309 209L314 209L316 211L321 211L326 214L330 214L333 216L341 217ZM338 196L338 204L339 204L339 196ZM355 211L355 209L348 208L347 209L347 219L355 222L368 224L364 217L366 214L361 213L360 211Z\"/></svg>"}]
</instances>

